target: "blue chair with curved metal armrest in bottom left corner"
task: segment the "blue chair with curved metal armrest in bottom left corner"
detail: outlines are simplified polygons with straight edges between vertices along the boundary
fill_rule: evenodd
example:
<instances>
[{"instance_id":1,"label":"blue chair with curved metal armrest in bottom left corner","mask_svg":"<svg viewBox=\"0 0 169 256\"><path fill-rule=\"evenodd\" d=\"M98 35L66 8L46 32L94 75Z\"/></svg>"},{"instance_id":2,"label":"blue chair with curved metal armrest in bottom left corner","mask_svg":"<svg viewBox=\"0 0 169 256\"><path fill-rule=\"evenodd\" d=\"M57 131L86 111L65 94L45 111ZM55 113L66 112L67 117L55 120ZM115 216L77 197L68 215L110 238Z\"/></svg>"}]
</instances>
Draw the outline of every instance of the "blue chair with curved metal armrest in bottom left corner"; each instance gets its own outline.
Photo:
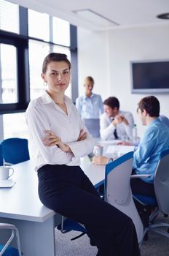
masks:
<instances>
[{"instance_id":1,"label":"blue chair with curved metal armrest in bottom left corner","mask_svg":"<svg viewBox=\"0 0 169 256\"><path fill-rule=\"evenodd\" d=\"M21 256L21 249L20 249L20 238L19 233L15 225L7 224L7 223L0 223L0 230L11 230L11 236L9 237L6 244L0 244L0 256ZM17 238L17 249L9 246L12 239L16 236Z\"/></svg>"}]
</instances>

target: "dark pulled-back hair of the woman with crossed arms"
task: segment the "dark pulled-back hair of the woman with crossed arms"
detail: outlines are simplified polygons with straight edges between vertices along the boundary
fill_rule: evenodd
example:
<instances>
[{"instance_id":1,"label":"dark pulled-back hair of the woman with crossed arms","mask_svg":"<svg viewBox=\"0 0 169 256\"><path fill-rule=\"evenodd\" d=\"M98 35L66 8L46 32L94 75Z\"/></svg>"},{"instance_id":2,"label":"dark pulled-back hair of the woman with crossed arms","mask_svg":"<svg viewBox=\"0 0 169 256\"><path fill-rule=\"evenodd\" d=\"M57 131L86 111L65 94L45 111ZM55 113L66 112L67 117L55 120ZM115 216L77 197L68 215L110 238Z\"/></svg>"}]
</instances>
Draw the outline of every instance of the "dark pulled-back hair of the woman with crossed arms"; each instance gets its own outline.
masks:
<instances>
[{"instance_id":1,"label":"dark pulled-back hair of the woman with crossed arms","mask_svg":"<svg viewBox=\"0 0 169 256\"><path fill-rule=\"evenodd\" d=\"M44 58L44 61L43 61L43 64L42 64L42 73L45 74L47 72L47 65L51 61L65 61L68 64L69 69L71 69L71 62L68 61L66 54L50 53Z\"/></svg>"}]
</instances>

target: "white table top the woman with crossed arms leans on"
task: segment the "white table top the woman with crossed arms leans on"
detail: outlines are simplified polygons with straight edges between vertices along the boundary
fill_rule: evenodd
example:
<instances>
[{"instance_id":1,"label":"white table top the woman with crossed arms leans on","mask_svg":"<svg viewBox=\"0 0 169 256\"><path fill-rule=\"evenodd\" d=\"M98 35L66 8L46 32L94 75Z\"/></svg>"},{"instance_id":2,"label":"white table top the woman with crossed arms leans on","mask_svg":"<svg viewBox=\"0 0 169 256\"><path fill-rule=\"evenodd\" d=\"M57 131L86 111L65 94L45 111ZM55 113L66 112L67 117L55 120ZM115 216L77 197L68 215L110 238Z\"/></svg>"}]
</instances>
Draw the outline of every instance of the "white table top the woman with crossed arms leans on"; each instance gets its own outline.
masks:
<instances>
[{"instance_id":1,"label":"white table top the woman with crossed arms leans on","mask_svg":"<svg viewBox=\"0 0 169 256\"><path fill-rule=\"evenodd\" d=\"M16 181L12 188L0 188L0 217L44 222L55 211L43 206L38 195L38 178L31 160L12 166ZM104 179L104 166L96 166L84 159L82 170L93 184Z\"/></svg>"}]
</instances>

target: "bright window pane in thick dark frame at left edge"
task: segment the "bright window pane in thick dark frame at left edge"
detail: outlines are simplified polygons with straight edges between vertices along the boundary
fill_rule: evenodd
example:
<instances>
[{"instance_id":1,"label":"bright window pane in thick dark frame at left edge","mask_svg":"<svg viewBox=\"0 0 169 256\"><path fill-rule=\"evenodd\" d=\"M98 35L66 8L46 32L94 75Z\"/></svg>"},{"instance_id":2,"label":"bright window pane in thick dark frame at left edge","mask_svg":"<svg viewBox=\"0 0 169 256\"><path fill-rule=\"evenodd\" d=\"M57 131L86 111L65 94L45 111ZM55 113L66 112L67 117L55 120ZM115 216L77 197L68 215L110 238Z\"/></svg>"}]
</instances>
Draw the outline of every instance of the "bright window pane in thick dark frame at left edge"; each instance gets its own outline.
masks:
<instances>
[{"instance_id":1,"label":"bright window pane in thick dark frame at left edge","mask_svg":"<svg viewBox=\"0 0 169 256\"><path fill-rule=\"evenodd\" d=\"M15 103L17 99L16 48L0 44L0 89L1 103Z\"/></svg>"}]
</instances>

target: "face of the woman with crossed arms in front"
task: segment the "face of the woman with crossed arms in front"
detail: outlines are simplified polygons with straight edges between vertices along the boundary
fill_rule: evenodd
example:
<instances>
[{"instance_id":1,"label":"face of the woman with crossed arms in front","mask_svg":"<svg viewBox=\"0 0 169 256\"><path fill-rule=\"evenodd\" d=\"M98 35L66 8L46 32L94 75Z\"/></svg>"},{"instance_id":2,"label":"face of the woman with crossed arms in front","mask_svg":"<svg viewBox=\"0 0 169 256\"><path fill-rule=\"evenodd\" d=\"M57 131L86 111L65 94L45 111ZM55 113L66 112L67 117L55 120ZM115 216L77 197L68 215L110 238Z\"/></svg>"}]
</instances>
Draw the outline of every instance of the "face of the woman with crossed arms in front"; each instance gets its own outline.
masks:
<instances>
[{"instance_id":1,"label":"face of the woman with crossed arms in front","mask_svg":"<svg viewBox=\"0 0 169 256\"><path fill-rule=\"evenodd\" d=\"M46 73L42 73L42 78L51 93L64 92L70 83L71 72L65 61L51 61L47 64Z\"/></svg>"}]
</instances>

